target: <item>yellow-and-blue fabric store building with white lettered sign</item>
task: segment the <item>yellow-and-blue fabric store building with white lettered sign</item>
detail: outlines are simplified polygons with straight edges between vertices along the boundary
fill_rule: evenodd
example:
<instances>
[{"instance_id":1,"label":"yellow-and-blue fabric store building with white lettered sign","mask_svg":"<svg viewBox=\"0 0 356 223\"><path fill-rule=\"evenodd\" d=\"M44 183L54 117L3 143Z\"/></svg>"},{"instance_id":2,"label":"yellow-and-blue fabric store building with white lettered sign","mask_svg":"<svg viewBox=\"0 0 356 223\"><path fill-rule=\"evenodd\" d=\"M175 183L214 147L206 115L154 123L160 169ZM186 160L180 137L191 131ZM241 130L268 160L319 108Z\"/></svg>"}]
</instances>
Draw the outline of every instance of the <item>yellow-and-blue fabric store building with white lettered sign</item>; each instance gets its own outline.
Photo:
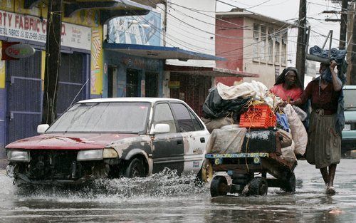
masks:
<instances>
[{"instance_id":1,"label":"yellow-and-blue fabric store building with white lettered sign","mask_svg":"<svg viewBox=\"0 0 356 223\"><path fill-rule=\"evenodd\" d=\"M147 14L151 9L131 1L99 6L85 1L63 5L58 115L78 100L103 97L103 24L130 10ZM0 158L6 144L36 135L41 123L46 15L43 1L0 1L1 48L23 43L35 50L28 57L0 61Z\"/></svg>"}]
</instances>

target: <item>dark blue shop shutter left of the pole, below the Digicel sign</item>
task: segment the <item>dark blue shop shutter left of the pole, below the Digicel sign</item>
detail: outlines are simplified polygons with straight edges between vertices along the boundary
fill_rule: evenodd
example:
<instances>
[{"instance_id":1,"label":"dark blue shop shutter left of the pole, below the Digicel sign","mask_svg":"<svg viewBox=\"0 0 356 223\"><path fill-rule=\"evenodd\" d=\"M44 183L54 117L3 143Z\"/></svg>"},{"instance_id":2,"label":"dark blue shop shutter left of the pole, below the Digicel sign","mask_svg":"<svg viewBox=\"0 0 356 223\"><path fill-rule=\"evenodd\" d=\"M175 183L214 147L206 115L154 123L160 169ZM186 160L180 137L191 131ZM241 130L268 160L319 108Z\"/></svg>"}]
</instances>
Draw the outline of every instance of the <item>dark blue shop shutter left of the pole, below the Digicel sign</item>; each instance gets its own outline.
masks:
<instances>
[{"instance_id":1,"label":"dark blue shop shutter left of the pole, below the Digicel sign","mask_svg":"<svg viewBox=\"0 0 356 223\"><path fill-rule=\"evenodd\" d=\"M41 52L6 61L6 144L37 135L42 116Z\"/></svg>"}]
</instances>

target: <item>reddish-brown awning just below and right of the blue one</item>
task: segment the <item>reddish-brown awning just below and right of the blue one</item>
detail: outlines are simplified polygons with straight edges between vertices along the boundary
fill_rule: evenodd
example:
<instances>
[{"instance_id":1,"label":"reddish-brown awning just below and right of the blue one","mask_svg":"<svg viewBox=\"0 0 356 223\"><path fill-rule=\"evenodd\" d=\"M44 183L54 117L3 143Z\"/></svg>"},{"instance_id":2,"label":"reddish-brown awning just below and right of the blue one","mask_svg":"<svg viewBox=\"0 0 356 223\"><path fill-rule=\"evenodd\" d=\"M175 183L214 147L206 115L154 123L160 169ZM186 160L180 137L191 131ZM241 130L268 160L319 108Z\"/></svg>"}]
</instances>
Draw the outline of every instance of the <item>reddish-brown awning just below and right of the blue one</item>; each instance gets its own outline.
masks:
<instances>
[{"instance_id":1,"label":"reddish-brown awning just below and right of the blue one","mask_svg":"<svg viewBox=\"0 0 356 223\"><path fill-rule=\"evenodd\" d=\"M234 71L224 68L206 68L195 66L174 66L165 65L164 71L171 71L174 73L186 73L192 75L202 75L211 77L241 77L241 78L258 78L257 73L247 73L244 71Z\"/></svg>"}]
</instances>

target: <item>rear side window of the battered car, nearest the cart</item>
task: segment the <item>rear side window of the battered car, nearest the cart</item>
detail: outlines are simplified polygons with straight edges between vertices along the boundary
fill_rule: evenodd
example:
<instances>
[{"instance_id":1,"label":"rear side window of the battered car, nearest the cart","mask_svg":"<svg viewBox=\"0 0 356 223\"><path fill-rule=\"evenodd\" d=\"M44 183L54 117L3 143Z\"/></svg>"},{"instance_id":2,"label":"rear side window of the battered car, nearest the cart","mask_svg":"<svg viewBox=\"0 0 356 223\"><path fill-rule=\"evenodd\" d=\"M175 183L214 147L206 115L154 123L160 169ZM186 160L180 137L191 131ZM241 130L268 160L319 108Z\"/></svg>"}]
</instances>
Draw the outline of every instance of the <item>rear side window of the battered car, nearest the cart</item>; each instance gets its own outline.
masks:
<instances>
[{"instance_id":1,"label":"rear side window of the battered car, nearest the cart","mask_svg":"<svg viewBox=\"0 0 356 223\"><path fill-rule=\"evenodd\" d=\"M177 119L179 132L194 131L194 123L188 108L180 103L171 103L171 106L173 113Z\"/></svg>"}]
</instances>

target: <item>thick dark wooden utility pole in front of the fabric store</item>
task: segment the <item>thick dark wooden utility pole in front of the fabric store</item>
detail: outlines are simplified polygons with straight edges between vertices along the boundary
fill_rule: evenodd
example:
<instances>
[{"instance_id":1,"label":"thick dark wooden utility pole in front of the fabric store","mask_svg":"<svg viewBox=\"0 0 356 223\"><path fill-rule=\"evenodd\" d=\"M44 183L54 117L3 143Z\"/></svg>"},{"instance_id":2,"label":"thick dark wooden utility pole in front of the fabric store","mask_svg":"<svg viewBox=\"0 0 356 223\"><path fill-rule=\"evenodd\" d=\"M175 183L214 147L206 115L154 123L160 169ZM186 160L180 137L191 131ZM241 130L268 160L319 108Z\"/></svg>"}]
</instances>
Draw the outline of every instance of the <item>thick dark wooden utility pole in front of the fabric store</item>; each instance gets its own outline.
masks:
<instances>
[{"instance_id":1,"label":"thick dark wooden utility pole in front of the fabric store","mask_svg":"<svg viewBox=\"0 0 356 223\"><path fill-rule=\"evenodd\" d=\"M57 117L58 75L61 63L62 1L48 0L46 64L42 104L42 123L48 125L51 125Z\"/></svg>"}]
</instances>

